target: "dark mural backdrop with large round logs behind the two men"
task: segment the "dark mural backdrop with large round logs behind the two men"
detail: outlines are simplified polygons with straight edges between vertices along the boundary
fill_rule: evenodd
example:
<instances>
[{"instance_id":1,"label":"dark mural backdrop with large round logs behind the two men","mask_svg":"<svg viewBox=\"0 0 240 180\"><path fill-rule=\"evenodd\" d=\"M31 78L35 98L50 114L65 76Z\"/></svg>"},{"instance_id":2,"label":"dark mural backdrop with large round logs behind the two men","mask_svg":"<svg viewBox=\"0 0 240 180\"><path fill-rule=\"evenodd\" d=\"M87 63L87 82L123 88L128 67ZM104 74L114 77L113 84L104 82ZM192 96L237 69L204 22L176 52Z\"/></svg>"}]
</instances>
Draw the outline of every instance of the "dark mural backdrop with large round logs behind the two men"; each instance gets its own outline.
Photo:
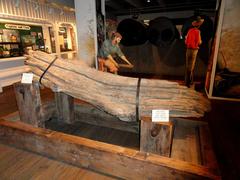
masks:
<instances>
[{"instance_id":1,"label":"dark mural backdrop with large round logs behind the two men","mask_svg":"<svg viewBox=\"0 0 240 180\"><path fill-rule=\"evenodd\" d=\"M150 77L157 76L183 80L185 73L186 47L184 44L185 34L182 34L182 28L185 27L186 23L189 25L189 20L193 17L194 13L194 11L164 12L157 13L155 16L152 14L140 14L137 19L131 16L119 16L114 19L112 17L108 18L108 15L106 15L107 36L111 34L111 31L121 31L119 29L125 28L125 34L128 35L130 40L135 41L133 43L125 43L125 35L124 32L121 31L123 35L120 44L121 49L134 64L134 68L121 68L120 73L128 75L145 74ZM206 22L211 21L211 27L207 28L209 28L208 32L212 33L215 20L214 13L201 12L201 15L207 18L208 21ZM177 21L179 18L184 19L184 21ZM148 19L150 22L145 23L145 19ZM166 19L168 22L166 22ZM124 23L125 25L123 28L120 28L119 26L121 26L124 21L129 21L129 24ZM136 23L133 22L131 24L130 21L135 21ZM151 22L154 23L151 25ZM112 27L113 24L115 24L115 28ZM143 32L143 26L146 29L145 33ZM174 30L172 30L172 27ZM168 28L170 28L171 31L169 31ZM159 33L157 38L152 36L153 33L151 34L151 30L156 30L157 33ZM170 34L168 32L170 32ZM151 36L153 38L151 38ZM162 38L167 36L169 36L169 39ZM203 83L205 81L207 63L210 56L209 46L211 45L211 38L208 38L208 40L204 41L201 45L197 57L195 77L197 81L202 81Z\"/></svg>"}]
</instances>

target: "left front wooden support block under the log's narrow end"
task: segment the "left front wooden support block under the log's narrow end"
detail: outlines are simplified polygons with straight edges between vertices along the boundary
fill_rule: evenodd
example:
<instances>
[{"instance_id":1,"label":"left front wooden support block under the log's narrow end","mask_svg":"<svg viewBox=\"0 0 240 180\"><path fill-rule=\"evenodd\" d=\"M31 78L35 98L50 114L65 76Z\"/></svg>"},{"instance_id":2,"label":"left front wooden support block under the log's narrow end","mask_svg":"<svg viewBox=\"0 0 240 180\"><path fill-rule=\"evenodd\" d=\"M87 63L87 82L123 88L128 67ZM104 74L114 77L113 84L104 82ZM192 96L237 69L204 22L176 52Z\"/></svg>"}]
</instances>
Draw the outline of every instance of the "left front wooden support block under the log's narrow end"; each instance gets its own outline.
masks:
<instances>
[{"instance_id":1,"label":"left front wooden support block under the log's narrow end","mask_svg":"<svg viewBox=\"0 0 240 180\"><path fill-rule=\"evenodd\" d=\"M44 127L38 82L14 84L20 120L35 127Z\"/></svg>"}]
</instances>

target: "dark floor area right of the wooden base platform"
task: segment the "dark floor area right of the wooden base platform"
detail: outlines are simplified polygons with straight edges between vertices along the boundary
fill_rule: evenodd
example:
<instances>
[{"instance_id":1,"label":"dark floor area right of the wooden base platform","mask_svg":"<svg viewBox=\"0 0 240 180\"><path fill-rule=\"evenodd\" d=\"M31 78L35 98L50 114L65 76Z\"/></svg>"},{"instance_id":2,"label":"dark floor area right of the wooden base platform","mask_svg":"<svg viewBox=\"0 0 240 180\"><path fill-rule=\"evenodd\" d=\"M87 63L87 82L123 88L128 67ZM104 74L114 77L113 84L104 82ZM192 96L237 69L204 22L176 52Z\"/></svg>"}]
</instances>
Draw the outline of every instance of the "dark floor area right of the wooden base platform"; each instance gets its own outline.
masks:
<instances>
[{"instance_id":1,"label":"dark floor area right of the wooden base platform","mask_svg":"<svg viewBox=\"0 0 240 180\"><path fill-rule=\"evenodd\" d=\"M212 101L207 115L223 179L240 179L240 102Z\"/></svg>"}]
</instances>

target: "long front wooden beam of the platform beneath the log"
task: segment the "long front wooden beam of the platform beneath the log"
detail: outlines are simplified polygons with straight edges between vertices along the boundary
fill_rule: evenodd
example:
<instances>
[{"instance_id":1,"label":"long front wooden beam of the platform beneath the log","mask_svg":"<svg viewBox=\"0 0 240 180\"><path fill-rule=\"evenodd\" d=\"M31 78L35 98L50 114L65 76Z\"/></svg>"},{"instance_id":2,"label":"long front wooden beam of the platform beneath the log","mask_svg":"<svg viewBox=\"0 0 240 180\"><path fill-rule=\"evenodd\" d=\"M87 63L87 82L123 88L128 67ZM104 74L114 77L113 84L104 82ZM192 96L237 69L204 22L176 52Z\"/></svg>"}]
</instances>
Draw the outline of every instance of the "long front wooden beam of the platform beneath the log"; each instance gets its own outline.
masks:
<instances>
[{"instance_id":1,"label":"long front wooden beam of the platform beneath the log","mask_svg":"<svg viewBox=\"0 0 240 180\"><path fill-rule=\"evenodd\" d=\"M220 179L207 167L22 122L0 120L0 142L126 179Z\"/></svg>"}]
</instances>

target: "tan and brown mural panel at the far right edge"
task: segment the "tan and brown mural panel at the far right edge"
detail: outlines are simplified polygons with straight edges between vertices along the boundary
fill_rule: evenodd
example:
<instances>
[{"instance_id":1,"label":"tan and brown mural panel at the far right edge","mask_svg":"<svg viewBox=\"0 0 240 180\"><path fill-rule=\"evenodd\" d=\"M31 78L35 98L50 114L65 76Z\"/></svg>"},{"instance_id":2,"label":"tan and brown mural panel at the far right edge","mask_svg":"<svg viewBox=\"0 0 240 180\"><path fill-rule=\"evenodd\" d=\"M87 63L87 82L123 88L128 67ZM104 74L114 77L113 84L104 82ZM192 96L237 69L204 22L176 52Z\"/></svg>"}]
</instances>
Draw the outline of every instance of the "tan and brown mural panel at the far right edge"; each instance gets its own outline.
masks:
<instances>
[{"instance_id":1,"label":"tan and brown mural panel at the far right edge","mask_svg":"<svg viewBox=\"0 0 240 180\"><path fill-rule=\"evenodd\" d=\"M240 1L226 1L213 96L240 98Z\"/></svg>"}]
</instances>

